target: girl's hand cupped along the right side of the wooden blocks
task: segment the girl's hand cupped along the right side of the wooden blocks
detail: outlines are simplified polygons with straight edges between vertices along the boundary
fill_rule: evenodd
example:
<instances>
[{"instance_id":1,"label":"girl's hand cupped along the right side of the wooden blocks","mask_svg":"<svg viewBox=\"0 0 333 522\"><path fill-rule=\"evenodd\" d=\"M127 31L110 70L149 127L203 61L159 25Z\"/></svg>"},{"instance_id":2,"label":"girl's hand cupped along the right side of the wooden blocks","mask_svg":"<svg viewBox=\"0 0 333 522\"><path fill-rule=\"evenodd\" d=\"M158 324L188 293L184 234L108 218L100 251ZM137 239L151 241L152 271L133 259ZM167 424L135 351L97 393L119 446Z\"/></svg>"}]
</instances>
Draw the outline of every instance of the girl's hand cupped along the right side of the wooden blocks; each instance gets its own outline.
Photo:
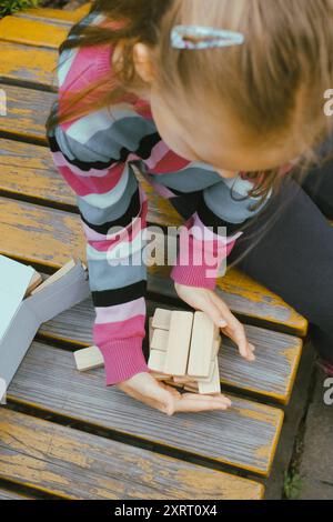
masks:
<instances>
[{"instance_id":1,"label":"girl's hand cupped along the right side of the wooden blocks","mask_svg":"<svg viewBox=\"0 0 333 522\"><path fill-rule=\"evenodd\" d=\"M255 360L253 353L255 348L249 343L244 327L213 290L185 287L179 283L174 283L174 288L180 299L195 310L205 312L216 327L221 328L223 333L238 344L241 355L246 361L252 362Z\"/></svg>"}]
</instances>

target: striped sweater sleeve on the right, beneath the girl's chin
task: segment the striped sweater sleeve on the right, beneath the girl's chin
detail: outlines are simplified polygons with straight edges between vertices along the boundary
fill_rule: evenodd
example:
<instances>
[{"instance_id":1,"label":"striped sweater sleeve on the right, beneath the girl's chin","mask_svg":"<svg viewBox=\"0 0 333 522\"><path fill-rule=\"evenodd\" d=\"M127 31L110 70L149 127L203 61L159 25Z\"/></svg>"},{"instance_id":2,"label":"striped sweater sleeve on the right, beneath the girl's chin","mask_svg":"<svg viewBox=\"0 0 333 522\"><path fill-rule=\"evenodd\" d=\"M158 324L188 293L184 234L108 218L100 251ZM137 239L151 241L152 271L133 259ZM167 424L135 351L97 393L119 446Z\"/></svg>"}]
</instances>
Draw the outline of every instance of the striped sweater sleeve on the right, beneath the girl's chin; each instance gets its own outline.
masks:
<instances>
[{"instance_id":1,"label":"striped sweater sleeve on the right, beneath the girl's chin","mask_svg":"<svg viewBox=\"0 0 333 522\"><path fill-rule=\"evenodd\" d=\"M171 172L172 171L172 172ZM168 150L150 169L173 205L188 218L180 228L179 252L171 278L189 287L214 290L226 271L226 258L243 234L241 225L256 212L250 198L253 188L246 174L224 179L205 163L189 162Z\"/></svg>"}]
</instances>

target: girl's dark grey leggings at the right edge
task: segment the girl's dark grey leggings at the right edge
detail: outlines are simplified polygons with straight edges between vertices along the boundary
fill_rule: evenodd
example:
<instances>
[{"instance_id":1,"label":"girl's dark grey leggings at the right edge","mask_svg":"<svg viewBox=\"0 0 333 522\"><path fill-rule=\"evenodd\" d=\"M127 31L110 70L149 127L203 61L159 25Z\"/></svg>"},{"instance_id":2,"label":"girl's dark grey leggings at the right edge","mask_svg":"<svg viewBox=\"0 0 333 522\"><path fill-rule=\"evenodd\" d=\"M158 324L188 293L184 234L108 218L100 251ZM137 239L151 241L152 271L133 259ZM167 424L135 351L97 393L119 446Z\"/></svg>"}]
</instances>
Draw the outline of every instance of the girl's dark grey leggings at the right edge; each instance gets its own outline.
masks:
<instances>
[{"instance_id":1,"label":"girl's dark grey leggings at the right edge","mask_svg":"<svg viewBox=\"0 0 333 522\"><path fill-rule=\"evenodd\" d=\"M333 161L311 171L302 187L286 175L280 194L238 240L230 262L276 212L279 220L236 265L309 320L310 339L333 363L333 227L326 219L333 220Z\"/></svg>"}]
</instances>

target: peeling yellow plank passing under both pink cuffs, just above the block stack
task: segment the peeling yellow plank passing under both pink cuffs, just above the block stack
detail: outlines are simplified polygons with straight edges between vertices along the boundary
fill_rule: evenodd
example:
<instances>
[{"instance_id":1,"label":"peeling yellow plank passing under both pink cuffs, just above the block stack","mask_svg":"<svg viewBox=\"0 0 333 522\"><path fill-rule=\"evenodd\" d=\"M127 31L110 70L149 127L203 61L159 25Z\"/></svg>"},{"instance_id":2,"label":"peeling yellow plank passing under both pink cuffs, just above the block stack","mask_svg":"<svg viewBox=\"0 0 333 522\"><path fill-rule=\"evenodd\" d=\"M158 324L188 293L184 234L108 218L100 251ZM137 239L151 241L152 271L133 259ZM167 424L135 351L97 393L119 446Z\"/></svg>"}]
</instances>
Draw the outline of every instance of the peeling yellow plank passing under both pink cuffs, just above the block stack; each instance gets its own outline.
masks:
<instances>
[{"instance_id":1,"label":"peeling yellow plank passing under both pink cuffs, just above the block stack","mask_svg":"<svg viewBox=\"0 0 333 522\"><path fill-rule=\"evenodd\" d=\"M79 215L0 198L0 232L1 253L29 263L59 269L72 255L85 259ZM149 272L150 291L176 297L169 278L170 267L151 267ZM239 270L233 269L220 278L216 292L235 313L255 319L261 324L269 321L289 333L302 335L306 332L304 318Z\"/></svg>"}]
</instances>

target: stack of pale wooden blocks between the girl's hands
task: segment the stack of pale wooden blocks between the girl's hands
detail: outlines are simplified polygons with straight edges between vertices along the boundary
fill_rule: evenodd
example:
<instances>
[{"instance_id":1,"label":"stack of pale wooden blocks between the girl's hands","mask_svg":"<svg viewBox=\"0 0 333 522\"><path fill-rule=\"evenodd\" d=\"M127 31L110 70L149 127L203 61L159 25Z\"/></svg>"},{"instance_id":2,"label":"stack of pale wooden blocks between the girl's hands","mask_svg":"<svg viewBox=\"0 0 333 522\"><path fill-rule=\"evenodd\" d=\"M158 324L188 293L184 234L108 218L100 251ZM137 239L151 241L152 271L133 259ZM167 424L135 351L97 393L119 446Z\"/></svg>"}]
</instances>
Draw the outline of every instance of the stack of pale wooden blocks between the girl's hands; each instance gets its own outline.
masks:
<instances>
[{"instance_id":1,"label":"stack of pale wooden blocks between the girl's hands","mask_svg":"<svg viewBox=\"0 0 333 522\"><path fill-rule=\"evenodd\" d=\"M221 392L220 329L203 312L157 309L150 319L149 369L155 379L202 394Z\"/></svg>"}]
</instances>

